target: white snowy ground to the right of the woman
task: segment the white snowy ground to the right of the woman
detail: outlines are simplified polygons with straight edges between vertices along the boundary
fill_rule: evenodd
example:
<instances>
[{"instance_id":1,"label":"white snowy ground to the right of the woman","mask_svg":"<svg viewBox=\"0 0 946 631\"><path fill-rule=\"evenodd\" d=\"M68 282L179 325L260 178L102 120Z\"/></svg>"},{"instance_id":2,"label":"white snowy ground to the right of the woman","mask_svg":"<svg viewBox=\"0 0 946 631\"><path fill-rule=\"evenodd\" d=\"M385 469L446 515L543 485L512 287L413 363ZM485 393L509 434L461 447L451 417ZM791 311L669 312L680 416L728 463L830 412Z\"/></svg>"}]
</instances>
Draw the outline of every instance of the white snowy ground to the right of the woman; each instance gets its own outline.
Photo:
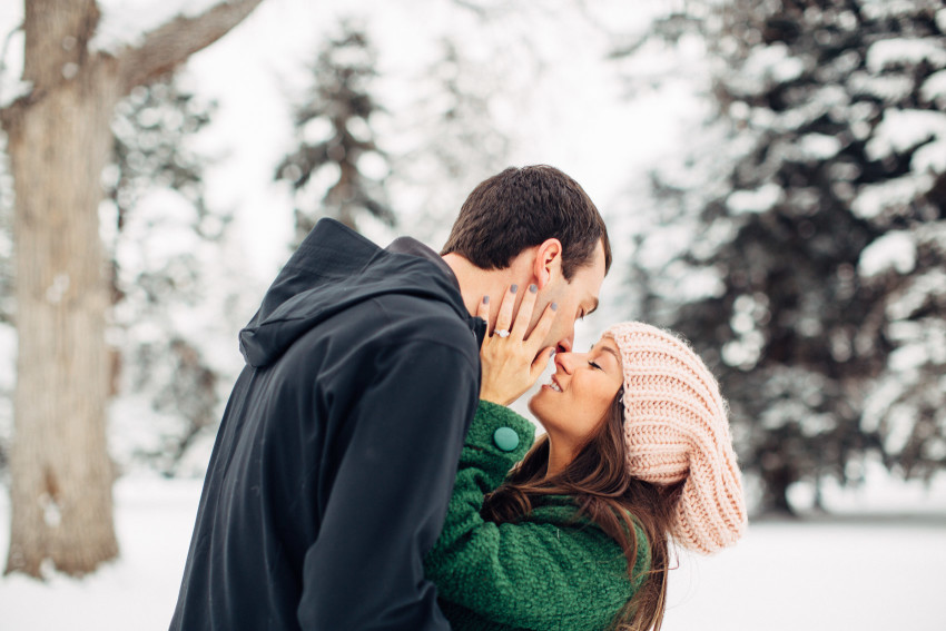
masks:
<instances>
[{"instance_id":1,"label":"white snowy ground to the right of the woman","mask_svg":"<svg viewBox=\"0 0 946 631\"><path fill-rule=\"evenodd\" d=\"M942 598L943 525L859 519L750 525L732 550L681 562L664 629L942 630L933 603Z\"/></svg>"}]
</instances>

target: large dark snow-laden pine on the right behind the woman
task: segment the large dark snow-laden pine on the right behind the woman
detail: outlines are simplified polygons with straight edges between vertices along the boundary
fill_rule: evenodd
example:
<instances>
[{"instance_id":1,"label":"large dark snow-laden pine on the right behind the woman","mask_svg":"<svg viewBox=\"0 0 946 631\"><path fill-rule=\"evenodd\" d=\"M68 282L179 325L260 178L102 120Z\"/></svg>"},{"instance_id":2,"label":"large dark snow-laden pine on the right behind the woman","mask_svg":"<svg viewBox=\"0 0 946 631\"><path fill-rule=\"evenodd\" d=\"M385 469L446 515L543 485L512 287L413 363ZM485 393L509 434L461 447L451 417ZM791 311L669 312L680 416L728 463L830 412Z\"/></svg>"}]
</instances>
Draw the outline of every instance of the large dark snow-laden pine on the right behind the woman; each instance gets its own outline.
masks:
<instances>
[{"instance_id":1,"label":"large dark snow-laden pine on the right behind the woman","mask_svg":"<svg viewBox=\"0 0 946 631\"><path fill-rule=\"evenodd\" d=\"M649 236L639 265L656 316L719 373L765 509L790 512L800 480L857 480L871 451L908 476L946 465L940 7L737 0L702 18L716 150L691 156L702 174L656 175L697 231L657 265L647 241L671 230Z\"/></svg>"}]
</instances>

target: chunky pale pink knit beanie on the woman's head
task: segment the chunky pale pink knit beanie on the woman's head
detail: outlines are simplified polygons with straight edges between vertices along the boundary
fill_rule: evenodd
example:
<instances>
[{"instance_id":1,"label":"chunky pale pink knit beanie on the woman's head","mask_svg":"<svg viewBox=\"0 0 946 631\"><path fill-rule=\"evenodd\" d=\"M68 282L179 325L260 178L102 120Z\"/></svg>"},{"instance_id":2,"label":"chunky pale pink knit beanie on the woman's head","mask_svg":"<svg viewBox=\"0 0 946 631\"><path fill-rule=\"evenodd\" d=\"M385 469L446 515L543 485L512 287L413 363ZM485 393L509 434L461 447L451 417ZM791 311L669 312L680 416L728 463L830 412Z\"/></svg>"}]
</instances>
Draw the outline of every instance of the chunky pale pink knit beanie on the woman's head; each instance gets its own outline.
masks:
<instances>
[{"instance_id":1,"label":"chunky pale pink knit beanie on the woman's head","mask_svg":"<svg viewBox=\"0 0 946 631\"><path fill-rule=\"evenodd\" d=\"M629 322L604 332L624 372L628 473L653 484L683 482L671 535L710 554L747 525L726 402L712 374L671 333Z\"/></svg>"}]
</instances>

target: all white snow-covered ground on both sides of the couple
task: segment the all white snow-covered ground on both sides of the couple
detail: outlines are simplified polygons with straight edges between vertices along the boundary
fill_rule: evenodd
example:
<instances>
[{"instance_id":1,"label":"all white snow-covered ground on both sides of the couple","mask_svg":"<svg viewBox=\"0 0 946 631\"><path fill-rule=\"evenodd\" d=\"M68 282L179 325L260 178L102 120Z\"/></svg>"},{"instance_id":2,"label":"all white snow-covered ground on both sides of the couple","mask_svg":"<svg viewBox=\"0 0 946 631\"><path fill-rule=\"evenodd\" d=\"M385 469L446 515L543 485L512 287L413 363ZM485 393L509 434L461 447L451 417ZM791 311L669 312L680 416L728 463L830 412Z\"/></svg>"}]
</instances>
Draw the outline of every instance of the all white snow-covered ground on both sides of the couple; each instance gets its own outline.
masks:
<instances>
[{"instance_id":1,"label":"all white snow-covered ground on both sides of the couple","mask_svg":"<svg viewBox=\"0 0 946 631\"><path fill-rule=\"evenodd\" d=\"M717 556L683 554L671 573L666 631L943 631L943 484L911 516L758 522ZM180 581L200 482L132 477L116 486L122 556L86 580L0 579L3 631L164 631ZM857 497L848 495L848 507ZM844 504L844 501L840 502ZM934 504L935 503L935 504ZM870 502L861 502L870 506ZM887 504L896 507L896 504ZM0 550L9 507L0 494Z\"/></svg>"}]
</instances>

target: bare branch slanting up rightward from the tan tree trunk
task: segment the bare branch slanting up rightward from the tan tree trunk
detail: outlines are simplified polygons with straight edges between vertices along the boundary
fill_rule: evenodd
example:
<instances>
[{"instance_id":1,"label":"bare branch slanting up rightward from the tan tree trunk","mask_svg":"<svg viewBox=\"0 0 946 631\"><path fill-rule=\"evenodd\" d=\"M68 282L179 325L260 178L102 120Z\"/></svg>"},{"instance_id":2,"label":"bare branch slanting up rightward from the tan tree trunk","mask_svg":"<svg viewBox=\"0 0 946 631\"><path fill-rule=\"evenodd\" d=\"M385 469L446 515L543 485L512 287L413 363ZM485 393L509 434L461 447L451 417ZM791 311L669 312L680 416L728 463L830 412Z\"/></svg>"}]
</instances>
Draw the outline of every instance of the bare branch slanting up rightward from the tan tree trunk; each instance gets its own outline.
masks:
<instances>
[{"instance_id":1,"label":"bare branch slanting up rightward from the tan tree trunk","mask_svg":"<svg viewBox=\"0 0 946 631\"><path fill-rule=\"evenodd\" d=\"M179 16L150 31L141 46L118 56L122 90L127 92L174 70L193 53L224 37L262 1L225 0L197 17Z\"/></svg>"}]
</instances>

